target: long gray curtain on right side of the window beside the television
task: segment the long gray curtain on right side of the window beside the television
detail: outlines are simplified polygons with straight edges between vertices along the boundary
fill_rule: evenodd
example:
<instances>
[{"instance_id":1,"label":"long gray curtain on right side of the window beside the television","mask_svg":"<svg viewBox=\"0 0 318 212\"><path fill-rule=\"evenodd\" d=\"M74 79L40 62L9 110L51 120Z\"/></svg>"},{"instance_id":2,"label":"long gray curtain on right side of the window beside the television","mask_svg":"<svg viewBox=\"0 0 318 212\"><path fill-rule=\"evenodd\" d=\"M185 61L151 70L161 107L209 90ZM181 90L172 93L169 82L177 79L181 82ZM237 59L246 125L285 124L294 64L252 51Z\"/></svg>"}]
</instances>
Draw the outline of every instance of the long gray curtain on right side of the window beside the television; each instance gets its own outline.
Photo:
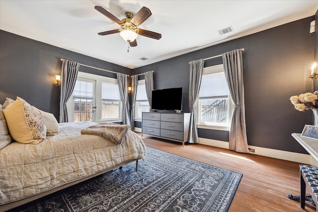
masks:
<instances>
[{"instance_id":1,"label":"long gray curtain on right side of the window beside the television","mask_svg":"<svg viewBox=\"0 0 318 212\"><path fill-rule=\"evenodd\" d=\"M249 152L245 125L242 50L224 53L222 59L225 78L234 102L229 148L238 152Z\"/></svg>"}]
</instances>

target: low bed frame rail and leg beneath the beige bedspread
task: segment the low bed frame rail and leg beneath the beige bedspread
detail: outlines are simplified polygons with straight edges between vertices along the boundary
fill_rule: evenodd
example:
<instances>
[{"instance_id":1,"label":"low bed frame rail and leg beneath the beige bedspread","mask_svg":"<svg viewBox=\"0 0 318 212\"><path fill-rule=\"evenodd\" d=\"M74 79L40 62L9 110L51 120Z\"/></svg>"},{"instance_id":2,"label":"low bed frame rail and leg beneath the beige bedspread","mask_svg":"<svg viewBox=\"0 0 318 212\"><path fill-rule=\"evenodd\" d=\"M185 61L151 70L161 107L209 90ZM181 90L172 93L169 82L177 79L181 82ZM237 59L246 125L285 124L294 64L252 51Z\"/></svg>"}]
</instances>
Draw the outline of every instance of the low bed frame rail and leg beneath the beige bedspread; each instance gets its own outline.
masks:
<instances>
[{"instance_id":1,"label":"low bed frame rail and leg beneath the beige bedspread","mask_svg":"<svg viewBox=\"0 0 318 212\"><path fill-rule=\"evenodd\" d=\"M6 204L4 204L4 205L0 205L0 212L4 212L4 211L7 211L7 210L16 208L16 207L18 207L18 206L24 205L24 204L26 204L26 203L29 203L29 202L33 201L33 200L37 200L37 199L39 199L39 198L41 198L41 197L44 197L44 196L47 196L47 195L52 194L52 193L54 193L54 192L60 191L60 190L65 189L65 188L68 188L68 187L70 187L70 186L73 186L73 185L78 184L78 183L80 183L80 182L83 182L83 181L85 181L85 180L88 180L88 179L91 179L91 178L96 177L96 176L98 176L98 175L101 175L101 174L103 174L103 173L112 171L112 170L114 170L114 169L116 169L116 168L118 168L118 167L119 167L120 169L122 169L123 165L132 163L132 162L134 162L134 161L136 161L136 172L137 172L137 170L138 170L138 159L133 159L133 160L130 160L130 161L128 161L128 162L119 164L119 165L117 165L117 166L113 166L113 167L111 167L111 168L109 168L109 169L106 169L106 170L104 170L104 171L98 172L98 173L96 173L96 174L90 175L90 176L88 176L88 177L81 178L81 179L79 179L79 180L76 180L76 181L67 183L67 184L65 184L65 185L56 187L56 188L54 188L54 189L48 190L48 191L46 191L46 192L43 192L43 193L40 193L40 194L31 196L31 197L27 197L27 198L24 198L24 199L22 199L22 200L18 200L18 201L14 201L14 202L11 202L11 203L6 203Z\"/></svg>"}]
</instances>

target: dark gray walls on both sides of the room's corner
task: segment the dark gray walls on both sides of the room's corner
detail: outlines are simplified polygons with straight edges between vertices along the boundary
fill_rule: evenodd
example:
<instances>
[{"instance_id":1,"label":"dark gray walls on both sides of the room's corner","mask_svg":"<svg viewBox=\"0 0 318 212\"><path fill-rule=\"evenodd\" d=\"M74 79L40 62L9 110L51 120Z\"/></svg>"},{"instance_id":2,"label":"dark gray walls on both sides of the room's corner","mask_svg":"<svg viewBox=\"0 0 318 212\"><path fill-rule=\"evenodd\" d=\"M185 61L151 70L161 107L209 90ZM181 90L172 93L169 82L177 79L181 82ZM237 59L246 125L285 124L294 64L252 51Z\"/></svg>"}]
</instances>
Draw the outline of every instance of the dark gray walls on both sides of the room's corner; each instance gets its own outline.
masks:
<instances>
[{"instance_id":1,"label":"dark gray walls on both sides of the room's corner","mask_svg":"<svg viewBox=\"0 0 318 212\"><path fill-rule=\"evenodd\" d=\"M317 46L317 32L309 33L309 25L314 18L308 17L141 67L133 70L133 73L154 70L155 89L183 87L183 112L189 112L188 62L244 48L248 144L307 153L291 137L291 133L301 132L305 124L312 124L312 113L294 110L289 98L313 91L313 81L308 76L317 52L314 43L316 37ZM131 75L130 69L0 31L0 103L5 101L5 97L15 99L20 96L35 107L59 117L60 88L54 87L53 81L54 75L61 72L60 58ZM206 61L205 66L221 63L221 58L217 58ZM80 71L115 77L112 73L86 67L81 67ZM199 136L229 140L228 132L224 131L199 129Z\"/></svg>"}]
</instances>

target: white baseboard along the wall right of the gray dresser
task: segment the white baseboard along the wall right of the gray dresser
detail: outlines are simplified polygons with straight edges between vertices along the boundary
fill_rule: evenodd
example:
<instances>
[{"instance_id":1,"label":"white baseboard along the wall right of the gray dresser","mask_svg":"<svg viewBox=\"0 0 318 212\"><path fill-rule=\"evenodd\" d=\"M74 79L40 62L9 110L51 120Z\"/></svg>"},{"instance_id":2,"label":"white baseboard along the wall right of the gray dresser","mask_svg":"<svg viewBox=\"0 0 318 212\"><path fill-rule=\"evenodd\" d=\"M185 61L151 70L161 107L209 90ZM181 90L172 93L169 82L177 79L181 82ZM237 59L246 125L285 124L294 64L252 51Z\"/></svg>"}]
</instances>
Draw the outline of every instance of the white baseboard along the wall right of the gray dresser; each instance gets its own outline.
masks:
<instances>
[{"instance_id":1,"label":"white baseboard along the wall right of the gray dresser","mask_svg":"<svg viewBox=\"0 0 318 212\"><path fill-rule=\"evenodd\" d=\"M226 148L226 149L229 148L229 142L225 142L225 141L216 141L211 139L199 138L199 143L210 145L210 146L216 146L220 148ZM318 162L309 154L263 148L263 147L251 146L251 145L248 145L248 148L255 149L255 152L251 152L251 154L263 155L267 157L289 160L289 161L294 161L294 162L299 162L304 164L311 164L313 166L318 165Z\"/></svg>"}]
</instances>

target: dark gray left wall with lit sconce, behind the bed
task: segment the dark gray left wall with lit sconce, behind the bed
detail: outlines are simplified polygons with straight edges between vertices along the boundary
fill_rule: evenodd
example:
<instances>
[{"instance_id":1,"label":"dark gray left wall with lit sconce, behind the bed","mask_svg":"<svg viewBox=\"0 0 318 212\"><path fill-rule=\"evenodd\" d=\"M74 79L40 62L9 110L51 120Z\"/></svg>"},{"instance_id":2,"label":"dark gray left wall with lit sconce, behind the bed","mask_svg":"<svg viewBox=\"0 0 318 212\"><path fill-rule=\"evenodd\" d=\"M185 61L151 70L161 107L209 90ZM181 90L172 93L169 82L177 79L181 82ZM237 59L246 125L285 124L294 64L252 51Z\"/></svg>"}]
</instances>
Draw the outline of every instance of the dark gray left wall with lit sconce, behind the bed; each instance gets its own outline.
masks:
<instances>
[{"instance_id":1,"label":"dark gray left wall with lit sconce, behind the bed","mask_svg":"<svg viewBox=\"0 0 318 212\"><path fill-rule=\"evenodd\" d=\"M61 75L61 58L131 75L130 69L0 30L0 103L19 96L59 119L60 87L53 81ZM79 71L116 78L84 66Z\"/></svg>"}]
</instances>

